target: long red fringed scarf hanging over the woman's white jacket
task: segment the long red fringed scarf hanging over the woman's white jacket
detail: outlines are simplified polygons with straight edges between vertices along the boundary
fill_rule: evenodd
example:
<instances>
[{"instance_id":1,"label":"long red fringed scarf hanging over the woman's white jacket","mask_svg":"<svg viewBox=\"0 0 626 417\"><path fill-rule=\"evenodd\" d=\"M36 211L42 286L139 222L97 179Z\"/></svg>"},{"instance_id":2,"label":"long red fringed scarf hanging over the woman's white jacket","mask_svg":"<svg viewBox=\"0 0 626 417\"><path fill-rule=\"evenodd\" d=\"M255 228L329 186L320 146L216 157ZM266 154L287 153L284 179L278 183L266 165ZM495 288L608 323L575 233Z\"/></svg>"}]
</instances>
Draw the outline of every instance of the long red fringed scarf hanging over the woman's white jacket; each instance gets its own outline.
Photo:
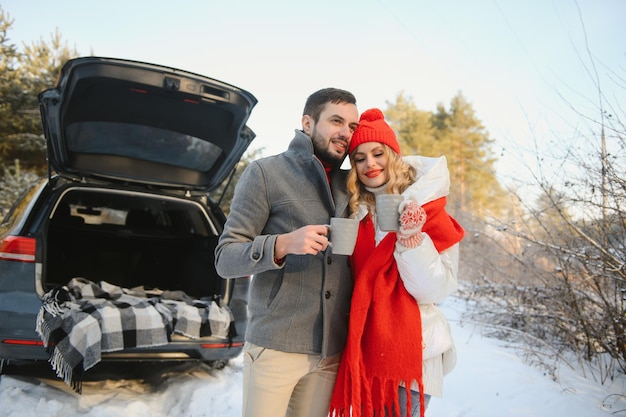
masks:
<instances>
[{"instance_id":1,"label":"long red fringed scarf hanging over the woman's white jacket","mask_svg":"<svg viewBox=\"0 0 626 417\"><path fill-rule=\"evenodd\" d=\"M424 205L427 220L422 230L440 252L463 237L461 226L445 212L445 200ZM403 382L409 389L413 381L419 387L424 416L422 321L417 302L400 279L395 243L396 234L389 233L376 246L370 215L361 220L350 258L355 285L348 341L330 403L332 417L371 417L374 412L384 416L385 409L391 414L392 407L399 415L398 386ZM410 409L407 395L407 413Z\"/></svg>"}]
</instances>

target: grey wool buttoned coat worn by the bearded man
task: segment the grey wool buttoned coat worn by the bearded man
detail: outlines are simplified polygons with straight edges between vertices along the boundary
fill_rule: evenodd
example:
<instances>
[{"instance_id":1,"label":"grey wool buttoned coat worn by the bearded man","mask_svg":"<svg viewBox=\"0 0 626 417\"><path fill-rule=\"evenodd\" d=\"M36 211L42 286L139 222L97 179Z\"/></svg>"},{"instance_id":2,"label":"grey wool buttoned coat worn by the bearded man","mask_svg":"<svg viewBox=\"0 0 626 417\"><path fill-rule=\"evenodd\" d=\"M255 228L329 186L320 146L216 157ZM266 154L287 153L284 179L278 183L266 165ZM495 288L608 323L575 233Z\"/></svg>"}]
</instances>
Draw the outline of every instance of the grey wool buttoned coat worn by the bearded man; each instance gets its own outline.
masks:
<instances>
[{"instance_id":1,"label":"grey wool buttoned coat worn by the bearded man","mask_svg":"<svg viewBox=\"0 0 626 417\"><path fill-rule=\"evenodd\" d=\"M289 148L253 161L235 187L217 245L223 278L252 275L246 340L270 349L340 353L345 345L352 278L348 257L329 248L318 255L274 260L276 236L348 215L347 171L335 169L330 185L311 139L296 130Z\"/></svg>"}]
</instances>

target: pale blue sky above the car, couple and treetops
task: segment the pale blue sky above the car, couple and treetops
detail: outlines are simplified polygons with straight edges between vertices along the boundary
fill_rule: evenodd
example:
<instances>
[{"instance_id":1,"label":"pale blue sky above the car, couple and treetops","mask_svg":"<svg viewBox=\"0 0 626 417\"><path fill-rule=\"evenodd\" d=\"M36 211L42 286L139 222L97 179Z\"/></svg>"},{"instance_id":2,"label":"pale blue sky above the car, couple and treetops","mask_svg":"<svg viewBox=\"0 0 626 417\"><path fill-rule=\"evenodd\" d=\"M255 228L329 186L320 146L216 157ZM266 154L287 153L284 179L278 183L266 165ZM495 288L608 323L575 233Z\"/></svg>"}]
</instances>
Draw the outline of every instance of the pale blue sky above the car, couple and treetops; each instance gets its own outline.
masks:
<instances>
[{"instance_id":1,"label":"pale blue sky above the car, couple and treetops","mask_svg":"<svg viewBox=\"0 0 626 417\"><path fill-rule=\"evenodd\" d=\"M534 141L563 141L597 117L599 82L624 102L624 0L3 0L10 41L57 30L80 55L208 75L259 100L252 149L284 150L306 97L347 89L360 111L399 94L418 109L461 93L510 175ZM591 58L592 57L592 58ZM563 145L567 143L567 145ZM513 164L512 164L513 163Z\"/></svg>"}]
</instances>

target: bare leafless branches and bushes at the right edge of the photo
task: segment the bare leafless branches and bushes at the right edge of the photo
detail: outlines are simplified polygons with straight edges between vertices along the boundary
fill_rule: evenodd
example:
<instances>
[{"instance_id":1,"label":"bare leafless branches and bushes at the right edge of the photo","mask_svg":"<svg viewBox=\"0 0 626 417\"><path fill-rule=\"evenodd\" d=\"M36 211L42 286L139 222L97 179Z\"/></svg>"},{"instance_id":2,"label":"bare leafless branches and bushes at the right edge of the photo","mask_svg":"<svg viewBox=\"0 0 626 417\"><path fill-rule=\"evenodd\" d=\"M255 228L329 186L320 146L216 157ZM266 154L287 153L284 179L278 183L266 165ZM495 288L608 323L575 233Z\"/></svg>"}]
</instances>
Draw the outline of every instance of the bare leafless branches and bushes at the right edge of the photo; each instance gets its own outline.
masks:
<instances>
[{"instance_id":1,"label":"bare leafless branches and bushes at the right edge of the photo","mask_svg":"<svg viewBox=\"0 0 626 417\"><path fill-rule=\"evenodd\" d=\"M466 295L479 300L474 319L524 335L544 365L575 357L604 382L626 372L626 113L601 80L626 83L610 70L601 77L588 49L583 56L595 107L570 104L578 127L555 139L567 146L541 152L537 143L527 166L534 198L511 190L521 210L468 241L475 285Z\"/></svg>"}]
</instances>

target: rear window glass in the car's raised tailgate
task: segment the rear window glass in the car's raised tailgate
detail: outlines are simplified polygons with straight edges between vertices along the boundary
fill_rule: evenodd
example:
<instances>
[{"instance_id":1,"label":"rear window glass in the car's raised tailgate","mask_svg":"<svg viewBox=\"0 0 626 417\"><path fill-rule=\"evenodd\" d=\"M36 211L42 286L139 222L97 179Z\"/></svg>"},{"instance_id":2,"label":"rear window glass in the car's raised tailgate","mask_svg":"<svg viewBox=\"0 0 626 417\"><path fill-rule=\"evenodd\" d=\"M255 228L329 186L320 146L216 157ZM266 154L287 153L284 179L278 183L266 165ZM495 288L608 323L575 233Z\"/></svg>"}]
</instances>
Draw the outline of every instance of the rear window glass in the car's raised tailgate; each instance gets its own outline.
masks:
<instances>
[{"instance_id":1,"label":"rear window glass in the car's raised tailgate","mask_svg":"<svg viewBox=\"0 0 626 417\"><path fill-rule=\"evenodd\" d=\"M222 150L205 140L160 129L119 122L76 122L67 127L70 152L116 155L206 172Z\"/></svg>"}]
</instances>

